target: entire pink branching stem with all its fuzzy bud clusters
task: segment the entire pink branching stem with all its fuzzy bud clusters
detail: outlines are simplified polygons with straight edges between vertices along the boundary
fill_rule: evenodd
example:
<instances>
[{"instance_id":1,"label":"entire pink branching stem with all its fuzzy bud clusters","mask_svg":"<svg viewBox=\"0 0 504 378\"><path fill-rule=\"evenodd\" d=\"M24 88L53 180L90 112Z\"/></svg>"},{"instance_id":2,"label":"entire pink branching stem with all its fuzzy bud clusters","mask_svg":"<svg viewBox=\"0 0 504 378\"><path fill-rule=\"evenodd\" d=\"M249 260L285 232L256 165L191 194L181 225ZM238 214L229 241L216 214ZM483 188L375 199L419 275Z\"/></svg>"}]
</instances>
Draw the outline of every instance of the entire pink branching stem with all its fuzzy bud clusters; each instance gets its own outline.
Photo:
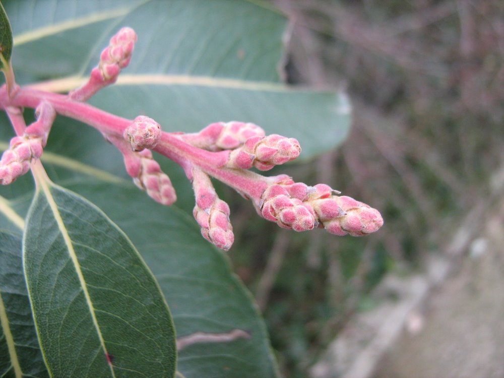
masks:
<instances>
[{"instance_id":1,"label":"entire pink branching stem with all its fuzzy bud clusters","mask_svg":"<svg viewBox=\"0 0 504 378\"><path fill-rule=\"evenodd\" d=\"M266 135L258 125L239 121L212 123L199 133L166 133L147 116L131 121L80 103L115 82L121 69L129 64L136 40L133 29L122 28L103 50L99 65L84 86L68 96L45 95L37 108L37 121L26 129L22 117L15 118L22 126L15 126L19 136L11 141L0 161L0 183L12 182L29 169L33 159L40 157L55 112L60 112L83 121L88 117L88 123L122 153L135 184L161 204L171 205L176 194L151 150L181 165L193 184L193 215L201 233L219 248L229 249L234 236L229 206L217 197L211 177L250 199L260 216L282 228L306 231L320 227L335 235L362 236L383 225L377 210L350 197L338 196L328 185L308 186L287 175L267 177L249 170L254 167L265 171L297 158L301 147L293 138ZM20 89L16 96L18 109L33 106L33 98L40 99L38 92L30 91ZM0 105L6 108L5 104Z\"/></svg>"}]
</instances>

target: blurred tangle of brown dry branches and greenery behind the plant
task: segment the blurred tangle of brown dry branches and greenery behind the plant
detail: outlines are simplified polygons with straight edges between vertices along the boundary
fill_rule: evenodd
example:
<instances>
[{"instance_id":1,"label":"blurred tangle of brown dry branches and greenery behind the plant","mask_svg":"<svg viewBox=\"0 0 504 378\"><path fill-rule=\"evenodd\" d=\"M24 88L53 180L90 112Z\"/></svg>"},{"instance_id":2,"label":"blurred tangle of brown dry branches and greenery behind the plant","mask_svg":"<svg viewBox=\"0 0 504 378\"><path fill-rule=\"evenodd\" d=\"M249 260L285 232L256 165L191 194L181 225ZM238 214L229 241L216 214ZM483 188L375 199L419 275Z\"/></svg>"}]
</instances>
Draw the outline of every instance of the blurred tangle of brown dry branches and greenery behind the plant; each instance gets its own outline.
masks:
<instances>
[{"instance_id":1,"label":"blurred tangle of brown dry branches and greenery behind the plant","mask_svg":"<svg viewBox=\"0 0 504 378\"><path fill-rule=\"evenodd\" d=\"M288 169L362 198L386 222L365 240L250 241L249 210L234 211L240 254L231 257L256 289L282 370L301 377L351 314L372 305L366 293L384 274L421 269L485 200L504 158L504 3L275 3L292 21L289 81L344 88L354 115L337 151Z\"/></svg>"}]
</instances>

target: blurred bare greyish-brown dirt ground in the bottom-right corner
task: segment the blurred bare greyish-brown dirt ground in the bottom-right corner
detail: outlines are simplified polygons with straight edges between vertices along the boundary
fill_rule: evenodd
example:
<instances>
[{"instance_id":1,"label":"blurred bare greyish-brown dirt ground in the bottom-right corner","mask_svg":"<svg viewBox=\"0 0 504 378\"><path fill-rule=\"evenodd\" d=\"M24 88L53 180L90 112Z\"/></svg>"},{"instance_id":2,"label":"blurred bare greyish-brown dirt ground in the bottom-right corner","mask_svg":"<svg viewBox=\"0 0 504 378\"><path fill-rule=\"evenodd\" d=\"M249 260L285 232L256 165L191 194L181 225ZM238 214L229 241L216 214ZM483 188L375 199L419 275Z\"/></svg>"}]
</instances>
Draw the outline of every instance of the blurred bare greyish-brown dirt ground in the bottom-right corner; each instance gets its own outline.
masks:
<instances>
[{"instance_id":1,"label":"blurred bare greyish-brown dirt ground in the bottom-right corner","mask_svg":"<svg viewBox=\"0 0 504 378\"><path fill-rule=\"evenodd\" d=\"M375 378L504 377L504 200Z\"/></svg>"}]
</instances>

